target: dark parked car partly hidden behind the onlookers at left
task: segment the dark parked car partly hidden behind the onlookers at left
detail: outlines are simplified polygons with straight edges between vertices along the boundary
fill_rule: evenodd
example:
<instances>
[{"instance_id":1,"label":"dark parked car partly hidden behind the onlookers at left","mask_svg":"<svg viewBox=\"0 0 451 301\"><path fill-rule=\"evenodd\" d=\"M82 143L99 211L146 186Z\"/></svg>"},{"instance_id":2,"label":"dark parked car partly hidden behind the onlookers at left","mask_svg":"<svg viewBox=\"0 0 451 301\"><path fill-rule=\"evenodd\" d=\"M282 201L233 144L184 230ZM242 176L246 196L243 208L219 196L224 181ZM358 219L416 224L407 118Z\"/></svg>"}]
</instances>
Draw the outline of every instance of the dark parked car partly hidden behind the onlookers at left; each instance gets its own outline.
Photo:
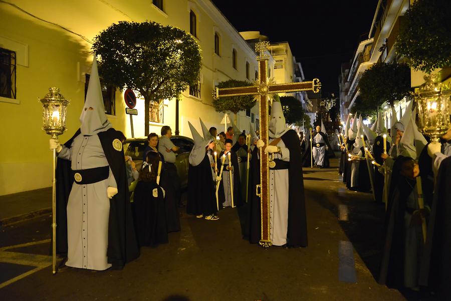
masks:
<instances>
[{"instance_id":1,"label":"dark parked car partly hidden behind the onlookers at left","mask_svg":"<svg viewBox=\"0 0 451 301\"><path fill-rule=\"evenodd\" d=\"M178 152L175 153L175 167L180 177L181 187L186 188L188 185L188 156L194 146L194 142L191 138L185 136L172 136L170 139L174 145L179 147ZM147 144L147 138L130 138L123 143L125 155L132 157L136 168L140 168L142 165L142 157Z\"/></svg>"}]
</instances>

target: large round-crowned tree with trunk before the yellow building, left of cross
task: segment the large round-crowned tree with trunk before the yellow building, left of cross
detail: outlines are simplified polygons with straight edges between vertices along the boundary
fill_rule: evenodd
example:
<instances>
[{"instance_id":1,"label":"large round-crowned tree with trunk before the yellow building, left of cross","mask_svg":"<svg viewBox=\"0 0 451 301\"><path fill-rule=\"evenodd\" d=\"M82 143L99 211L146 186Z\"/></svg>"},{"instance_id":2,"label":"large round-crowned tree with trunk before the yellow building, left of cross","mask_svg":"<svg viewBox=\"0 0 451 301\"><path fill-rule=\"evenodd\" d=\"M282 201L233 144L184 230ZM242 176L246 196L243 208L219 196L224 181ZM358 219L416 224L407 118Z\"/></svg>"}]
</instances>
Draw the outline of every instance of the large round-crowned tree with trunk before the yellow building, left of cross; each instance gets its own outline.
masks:
<instances>
[{"instance_id":1,"label":"large round-crowned tree with trunk before the yellow building, left of cross","mask_svg":"<svg viewBox=\"0 0 451 301\"><path fill-rule=\"evenodd\" d=\"M127 87L144 97L145 134L149 133L149 105L178 97L199 80L200 48L185 31L155 22L120 21L94 38L103 80Z\"/></svg>"}]
</instances>

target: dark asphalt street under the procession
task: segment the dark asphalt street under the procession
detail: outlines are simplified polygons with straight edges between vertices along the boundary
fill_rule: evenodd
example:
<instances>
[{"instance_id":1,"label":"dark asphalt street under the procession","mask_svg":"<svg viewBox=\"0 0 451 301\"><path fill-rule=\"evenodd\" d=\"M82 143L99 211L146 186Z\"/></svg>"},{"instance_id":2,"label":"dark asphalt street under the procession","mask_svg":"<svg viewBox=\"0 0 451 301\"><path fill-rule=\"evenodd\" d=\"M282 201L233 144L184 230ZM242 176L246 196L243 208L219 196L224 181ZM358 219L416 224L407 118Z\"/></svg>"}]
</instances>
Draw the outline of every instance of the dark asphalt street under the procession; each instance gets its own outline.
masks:
<instances>
[{"instance_id":1,"label":"dark asphalt street under the procession","mask_svg":"<svg viewBox=\"0 0 451 301\"><path fill-rule=\"evenodd\" d=\"M348 191L333 168L304 169L309 246L268 250L241 236L236 209L220 219L180 210L181 232L141 248L123 270L52 275L51 216L0 230L1 300L417 300L379 285L384 206ZM184 197L186 194L184 194ZM427 298L421 298L426 300Z\"/></svg>"}]
</instances>

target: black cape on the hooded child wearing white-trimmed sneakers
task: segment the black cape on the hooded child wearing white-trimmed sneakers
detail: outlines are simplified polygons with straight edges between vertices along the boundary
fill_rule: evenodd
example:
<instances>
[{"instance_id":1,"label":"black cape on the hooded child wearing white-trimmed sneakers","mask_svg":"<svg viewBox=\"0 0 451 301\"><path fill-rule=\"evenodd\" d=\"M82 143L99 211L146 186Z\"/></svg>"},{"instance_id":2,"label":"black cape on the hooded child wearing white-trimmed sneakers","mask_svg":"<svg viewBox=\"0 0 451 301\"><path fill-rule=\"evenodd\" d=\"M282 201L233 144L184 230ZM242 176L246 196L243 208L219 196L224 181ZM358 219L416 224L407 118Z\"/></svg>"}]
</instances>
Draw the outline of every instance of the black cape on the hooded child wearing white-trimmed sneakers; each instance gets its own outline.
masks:
<instances>
[{"instance_id":1,"label":"black cape on the hooded child wearing white-trimmed sneakers","mask_svg":"<svg viewBox=\"0 0 451 301\"><path fill-rule=\"evenodd\" d=\"M199 165L188 167L188 198L186 213L204 216L217 212L215 186L208 155Z\"/></svg>"}]
</instances>

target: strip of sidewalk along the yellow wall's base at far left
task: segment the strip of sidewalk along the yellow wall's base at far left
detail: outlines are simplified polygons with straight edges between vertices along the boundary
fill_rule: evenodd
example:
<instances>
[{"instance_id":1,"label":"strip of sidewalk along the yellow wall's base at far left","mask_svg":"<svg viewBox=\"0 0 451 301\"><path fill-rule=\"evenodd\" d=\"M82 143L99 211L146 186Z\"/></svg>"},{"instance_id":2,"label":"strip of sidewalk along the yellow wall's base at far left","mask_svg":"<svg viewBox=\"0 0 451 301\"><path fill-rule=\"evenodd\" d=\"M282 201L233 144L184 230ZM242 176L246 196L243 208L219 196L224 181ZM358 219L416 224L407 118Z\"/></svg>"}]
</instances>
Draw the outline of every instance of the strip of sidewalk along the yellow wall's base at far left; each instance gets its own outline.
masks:
<instances>
[{"instance_id":1,"label":"strip of sidewalk along the yellow wall's base at far left","mask_svg":"<svg viewBox=\"0 0 451 301\"><path fill-rule=\"evenodd\" d=\"M0 196L0 226L52 212L52 187Z\"/></svg>"}]
</instances>

